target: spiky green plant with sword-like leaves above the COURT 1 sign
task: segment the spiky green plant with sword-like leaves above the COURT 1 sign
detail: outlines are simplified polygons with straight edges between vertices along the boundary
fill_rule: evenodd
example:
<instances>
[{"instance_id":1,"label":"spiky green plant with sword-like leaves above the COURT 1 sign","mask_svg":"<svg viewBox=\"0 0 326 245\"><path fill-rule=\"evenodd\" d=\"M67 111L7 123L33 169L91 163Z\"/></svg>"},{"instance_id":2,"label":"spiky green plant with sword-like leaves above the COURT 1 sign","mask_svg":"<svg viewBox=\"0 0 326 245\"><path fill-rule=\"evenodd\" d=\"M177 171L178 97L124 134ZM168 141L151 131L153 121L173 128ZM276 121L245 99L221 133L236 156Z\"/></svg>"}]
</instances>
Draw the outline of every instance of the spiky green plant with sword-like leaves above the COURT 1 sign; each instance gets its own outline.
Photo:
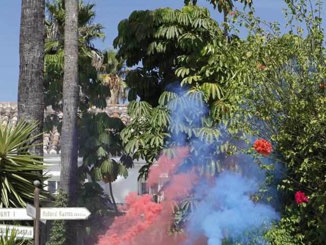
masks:
<instances>
[{"instance_id":1,"label":"spiky green plant with sword-like leaves above the COURT 1 sign","mask_svg":"<svg viewBox=\"0 0 326 245\"><path fill-rule=\"evenodd\" d=\"M1 123L1 120L0 120ZM31 136L37 127L36 122L27 124L24 121L0 126L0 208L25 207L26 202L33 202L35 180L44 180L43 161L32 156L28 151L35 138ZM45 198L46 192L41 190L40 198Z\"/></svg>"}]
</instances>

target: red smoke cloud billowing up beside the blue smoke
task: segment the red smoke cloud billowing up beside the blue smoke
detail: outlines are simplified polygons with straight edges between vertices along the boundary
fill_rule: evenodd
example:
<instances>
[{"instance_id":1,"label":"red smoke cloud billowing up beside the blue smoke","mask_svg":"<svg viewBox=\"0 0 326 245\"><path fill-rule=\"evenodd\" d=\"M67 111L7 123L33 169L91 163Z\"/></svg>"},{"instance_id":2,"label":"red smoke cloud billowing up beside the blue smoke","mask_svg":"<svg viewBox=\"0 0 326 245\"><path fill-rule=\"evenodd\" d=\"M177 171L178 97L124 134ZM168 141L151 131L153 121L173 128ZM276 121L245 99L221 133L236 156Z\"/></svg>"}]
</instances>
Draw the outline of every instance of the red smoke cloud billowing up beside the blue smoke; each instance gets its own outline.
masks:
<instances>
[{"instance_id":1,"label":"red smoke cloud billowing up beside the blue smoke","mask_svg":"<svg viewBox=\"0 0 326 245\"><path fill-rule=\"evenodd\" d=\"M174 173L189 154L185 147L177 148L176 151L177 156L173 158L161 156L158 164L149 171L149 184L156 183L162 174L169 174L169 183L161 189L165 201L157 204L151 195L129 193L125 198L128 207L126 214L115 217L106 234L99 236L98 245L177 245L185 239L185 235L169 235L173 218L172 205L185 198L198 180L193 171L186 174Z\"/></svg>"}]
</instances>

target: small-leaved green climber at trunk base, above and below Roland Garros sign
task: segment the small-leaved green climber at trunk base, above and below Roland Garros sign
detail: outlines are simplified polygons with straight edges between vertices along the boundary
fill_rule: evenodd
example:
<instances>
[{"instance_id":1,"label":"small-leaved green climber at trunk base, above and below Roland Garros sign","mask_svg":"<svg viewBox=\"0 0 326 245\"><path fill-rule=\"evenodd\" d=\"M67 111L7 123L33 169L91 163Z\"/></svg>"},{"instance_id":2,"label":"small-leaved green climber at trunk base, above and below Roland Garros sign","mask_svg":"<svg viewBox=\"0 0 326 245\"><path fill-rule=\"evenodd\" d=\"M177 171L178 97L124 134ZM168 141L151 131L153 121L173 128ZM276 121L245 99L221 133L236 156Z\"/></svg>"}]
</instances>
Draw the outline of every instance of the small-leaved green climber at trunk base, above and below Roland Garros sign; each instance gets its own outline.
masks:
<instances>
[{"instance_id":1,"label":"small-leaved green climber at trunk base, above and below Roland Garros sign","mask_svg":"<svg viewBox=\"0 0 326 245\"><path fill-rule=\"evenodd\" d=\"M61 188L56 195L55 207L64 208L68 205L68 196ZM66 244L66 220L55 220L52 223L51 237L46 245L65 245Z\"/></svg>"}]
</instances>

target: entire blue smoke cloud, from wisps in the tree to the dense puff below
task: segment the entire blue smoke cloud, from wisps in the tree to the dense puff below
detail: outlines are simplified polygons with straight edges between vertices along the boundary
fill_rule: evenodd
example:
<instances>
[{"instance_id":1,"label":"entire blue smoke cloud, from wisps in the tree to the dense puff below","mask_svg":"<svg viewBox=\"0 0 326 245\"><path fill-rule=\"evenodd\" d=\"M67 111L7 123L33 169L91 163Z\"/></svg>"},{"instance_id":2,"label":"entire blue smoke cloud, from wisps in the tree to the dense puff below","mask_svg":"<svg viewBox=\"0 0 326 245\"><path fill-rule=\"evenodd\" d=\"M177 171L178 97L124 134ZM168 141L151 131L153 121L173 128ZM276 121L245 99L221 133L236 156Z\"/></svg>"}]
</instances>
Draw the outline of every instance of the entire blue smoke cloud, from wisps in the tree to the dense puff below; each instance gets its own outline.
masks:
<instances>
[{"instance_id":1,"label":"entire blue smoke cloud, from wisps in the tree to the dense puff below","mask_svg":"<svg viewBox=\"0 0 326 245\"><path fill-rule=\"evenodd\" d=\"M249 244L254 239L255 242L251 244L266 244L267 241L261 237L270 228L271 222L278 220L280 215L270 205L255 204L250 198L251 194L257 193L262 187L260 184L265 180L264 172L254 163L252 156L239 152L231 156L215 153L230 137L227 126L217 124L209 115L209 110L203 103L203 94L187 94L185 88L176 84L168 90L178 94L176 99L167 103L172 118L170 142L187 145L192 153L192 162L187 162L187 159L178 172L186 173L194 164L198 167L205 166L210 160L221 163L221 169L214 174L214 183L202 178L193 190L199 207L191 214L186 225L186 244L193 244L203 234L208 238L208 245L220 245L224 239L229 239L233 244ZM202 127L210 127L220 135L219 138L207 143L203 139L205 135L203 138L198 136ZM189 130L194 133L189 134ZM235 140L233 143L240 148L247 146L243 141ZM230 166L238 166L235 171L239 173L226 170L231 169Z\"/></svg>"}]
</instances>

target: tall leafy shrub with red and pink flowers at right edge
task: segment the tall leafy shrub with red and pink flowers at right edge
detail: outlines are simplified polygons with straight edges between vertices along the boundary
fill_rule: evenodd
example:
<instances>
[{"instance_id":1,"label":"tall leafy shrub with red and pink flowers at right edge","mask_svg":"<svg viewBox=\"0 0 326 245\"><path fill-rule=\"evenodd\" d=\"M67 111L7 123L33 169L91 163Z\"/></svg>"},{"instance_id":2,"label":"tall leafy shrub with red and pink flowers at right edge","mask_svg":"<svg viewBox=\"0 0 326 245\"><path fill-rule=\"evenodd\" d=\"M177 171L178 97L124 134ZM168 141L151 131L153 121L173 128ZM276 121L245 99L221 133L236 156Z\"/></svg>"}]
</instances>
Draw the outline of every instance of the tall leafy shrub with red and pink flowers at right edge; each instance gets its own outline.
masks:
<instances>
[{"instance_id":1,"label":"tall leafy shrub with red and pink flowers at right edge","mask_svg":"<svg viewBox=\"0 0 326 245\"><path fill-rule=\"evenodd\" d=\"M279 169L282 181L278 183L283 218L267 233L270 243L323 244L326 57L321 19L312 17L318 16L321 5L319 1L315 7L301 0L287 2L289 27L294 29L292 21L304 22L306 33L297 28L297 34L292 30L282 36L278 30L266 34L259 19L247 16L253 34L244 43L248 55L242 64L250 79L230 89L246 98L239 111L248 116L236 127L273 142L276 160L286 167ZM298 190L308 195L307 204L295 203Z\"/></svg>"}]
</instances>

